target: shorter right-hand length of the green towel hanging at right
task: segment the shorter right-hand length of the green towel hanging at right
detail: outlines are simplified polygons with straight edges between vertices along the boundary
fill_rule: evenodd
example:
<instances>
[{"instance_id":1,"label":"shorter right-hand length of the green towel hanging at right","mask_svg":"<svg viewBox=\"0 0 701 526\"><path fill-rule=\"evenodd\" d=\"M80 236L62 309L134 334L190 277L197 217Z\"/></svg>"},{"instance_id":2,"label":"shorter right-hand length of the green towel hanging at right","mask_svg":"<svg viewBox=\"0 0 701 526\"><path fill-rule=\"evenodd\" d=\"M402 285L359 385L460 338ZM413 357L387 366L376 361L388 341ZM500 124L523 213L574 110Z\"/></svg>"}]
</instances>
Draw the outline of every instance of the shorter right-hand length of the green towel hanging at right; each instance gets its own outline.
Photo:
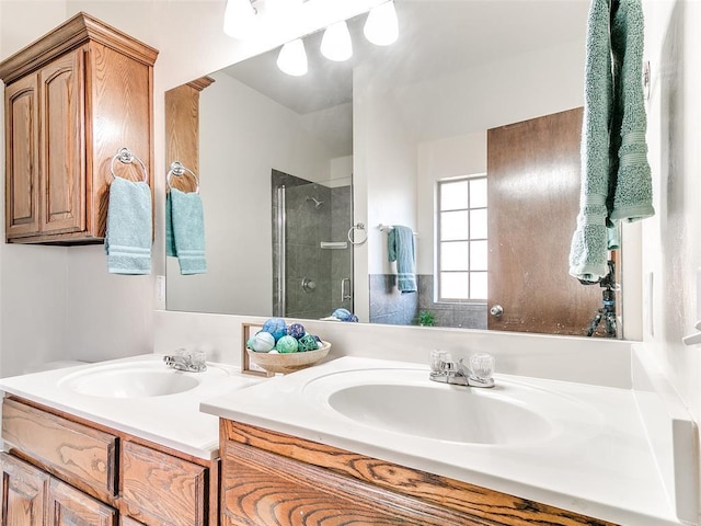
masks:
<instances>
[{"instance_id":1,"label":"shorter right-hand length of the green towel hanging at right","mask_svg":"<svg viewBox=\"0 0 701 526\"><path fill-rule=\"evenodd\" d=\"M618 4L618 7L617 7ZM610 218L632 222L651 217L653 186L647 162L643 93L643 8L640 0L613 2L611 55L613 107L611 118Z\"/></svg>"}]
</instances>

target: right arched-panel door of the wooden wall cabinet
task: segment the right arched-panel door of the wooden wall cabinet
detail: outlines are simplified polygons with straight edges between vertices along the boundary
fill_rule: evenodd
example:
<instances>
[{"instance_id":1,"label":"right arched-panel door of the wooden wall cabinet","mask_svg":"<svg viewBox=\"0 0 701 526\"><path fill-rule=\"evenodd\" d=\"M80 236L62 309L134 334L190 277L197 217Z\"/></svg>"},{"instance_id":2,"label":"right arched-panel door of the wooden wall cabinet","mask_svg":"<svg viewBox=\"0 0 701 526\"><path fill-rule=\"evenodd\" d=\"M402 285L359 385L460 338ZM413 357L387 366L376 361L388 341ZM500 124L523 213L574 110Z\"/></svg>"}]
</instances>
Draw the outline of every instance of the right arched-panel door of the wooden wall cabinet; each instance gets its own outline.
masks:
<instances>
[{"instance_id":1,"label":"right arched-panel door of the wooden wall cabinet","mask_svg":"<svg viewBox=\"0 0 701 526\"><path fill-rule=\"evenodd\" d=\"M39 71L43 233L85 229L83 54L76 49Z\"/></svg>"}]
</instances>

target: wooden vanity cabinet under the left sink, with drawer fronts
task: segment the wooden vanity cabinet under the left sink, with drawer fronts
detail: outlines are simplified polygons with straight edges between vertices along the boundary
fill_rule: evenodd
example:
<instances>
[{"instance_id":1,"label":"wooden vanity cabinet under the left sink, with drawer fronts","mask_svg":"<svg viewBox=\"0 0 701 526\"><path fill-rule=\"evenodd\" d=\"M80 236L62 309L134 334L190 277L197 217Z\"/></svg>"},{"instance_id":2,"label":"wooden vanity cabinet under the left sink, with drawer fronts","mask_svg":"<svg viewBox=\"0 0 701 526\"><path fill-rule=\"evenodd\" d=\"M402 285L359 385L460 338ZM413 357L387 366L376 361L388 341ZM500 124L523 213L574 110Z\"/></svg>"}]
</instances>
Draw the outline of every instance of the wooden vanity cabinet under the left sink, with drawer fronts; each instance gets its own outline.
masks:
<instances>
[{"instance_id":1,"label":"wooden vanity cabinet under the left sink, with drawer fronts","mask_svg":"<svg viewBox=\"0 0 701 526\"><path fill-rule=\"evenodd\" d=\"M204 460L15 397L2 405L1 525L217 526Z\"/></svg>"}]
</instances>

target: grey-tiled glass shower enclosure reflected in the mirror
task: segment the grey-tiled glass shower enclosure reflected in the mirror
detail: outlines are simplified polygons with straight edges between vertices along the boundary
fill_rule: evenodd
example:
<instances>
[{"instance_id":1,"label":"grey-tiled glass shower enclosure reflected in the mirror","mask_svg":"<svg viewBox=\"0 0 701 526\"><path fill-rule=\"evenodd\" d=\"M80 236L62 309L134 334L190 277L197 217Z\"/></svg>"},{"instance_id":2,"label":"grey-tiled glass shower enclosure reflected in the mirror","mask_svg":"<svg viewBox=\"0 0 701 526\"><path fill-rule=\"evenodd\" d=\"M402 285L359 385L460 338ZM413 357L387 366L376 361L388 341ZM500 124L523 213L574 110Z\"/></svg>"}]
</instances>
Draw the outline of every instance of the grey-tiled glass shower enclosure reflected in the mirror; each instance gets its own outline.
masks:
<instances>
[{"instance_id":1,"label":"grey-tiled glass shower enclosure reflected in the mirror","mask_svg":"<svg viewBox=\"0 0 701 526\"><path fill-rule=\"evenodd\" d=\"M325 318L353 312L353 192L277 170L273 188L273 313Z\"/></svg>"}]
</instances>

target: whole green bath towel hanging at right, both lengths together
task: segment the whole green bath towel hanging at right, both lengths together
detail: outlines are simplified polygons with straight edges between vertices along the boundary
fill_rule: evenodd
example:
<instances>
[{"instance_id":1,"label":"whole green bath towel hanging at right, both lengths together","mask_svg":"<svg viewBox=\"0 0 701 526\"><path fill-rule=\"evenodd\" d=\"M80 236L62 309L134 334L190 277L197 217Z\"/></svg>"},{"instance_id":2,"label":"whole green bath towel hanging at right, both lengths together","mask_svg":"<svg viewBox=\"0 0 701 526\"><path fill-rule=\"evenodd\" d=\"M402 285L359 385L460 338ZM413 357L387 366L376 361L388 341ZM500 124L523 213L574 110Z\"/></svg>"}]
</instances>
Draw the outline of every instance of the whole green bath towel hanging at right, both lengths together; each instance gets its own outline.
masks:
<instances>
[{"instance_id":1,"label":"whole green bath towel hanging at right, both lengths together","mask_svg":"<svg viewBox=\"0 0 701 526\"><path fill-rule=\"evenodd\" d=\"M598 282L620 220L654 214L645 144L640 0L593 0L587 25L582 191L570 274Z\"/></svg>"}]
</instances>

